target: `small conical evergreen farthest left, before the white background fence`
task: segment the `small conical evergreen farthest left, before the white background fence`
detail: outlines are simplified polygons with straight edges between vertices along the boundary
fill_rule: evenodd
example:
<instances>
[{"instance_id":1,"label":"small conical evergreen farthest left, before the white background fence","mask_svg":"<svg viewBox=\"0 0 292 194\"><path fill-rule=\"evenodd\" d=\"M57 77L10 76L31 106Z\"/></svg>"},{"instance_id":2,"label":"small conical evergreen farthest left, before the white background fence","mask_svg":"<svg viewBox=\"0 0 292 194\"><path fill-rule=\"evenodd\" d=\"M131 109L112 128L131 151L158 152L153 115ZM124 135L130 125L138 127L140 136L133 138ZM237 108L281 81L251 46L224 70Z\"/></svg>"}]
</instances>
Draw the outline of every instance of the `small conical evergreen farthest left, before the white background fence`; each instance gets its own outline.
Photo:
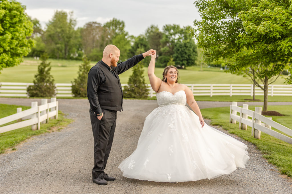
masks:
<instances>
[{"instance_id":1,"label":"small conical evergreen farthest left, before the white background fence","mask_svg":"<svg viewBox=\"0 0 292 194\"><path fill-rule=\"evenodd\" d=\"M41 60L42 62L34 76L34 85L27 88L29 97L53 97L56 95L56 86L53 76L50 74L51 66L50 63L46 62L48 55L43 54Z\"/></svg>"}]
</instances>

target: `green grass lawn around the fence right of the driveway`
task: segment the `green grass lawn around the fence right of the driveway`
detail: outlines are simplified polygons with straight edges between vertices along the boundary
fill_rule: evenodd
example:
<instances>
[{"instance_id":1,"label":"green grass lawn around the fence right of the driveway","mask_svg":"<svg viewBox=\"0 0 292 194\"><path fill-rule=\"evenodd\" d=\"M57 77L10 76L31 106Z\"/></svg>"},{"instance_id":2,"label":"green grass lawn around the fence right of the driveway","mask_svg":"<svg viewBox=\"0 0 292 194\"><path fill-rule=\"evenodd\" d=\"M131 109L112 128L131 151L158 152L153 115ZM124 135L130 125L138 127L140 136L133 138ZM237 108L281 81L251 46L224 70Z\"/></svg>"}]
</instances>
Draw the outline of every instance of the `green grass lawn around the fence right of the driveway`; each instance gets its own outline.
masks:
<instances>
[{"instance_id":1,"label":"green grass lawn around the fence right of the driveway","mask_svg":"<svg viewBox=\"0 0 292 194\"><path fill-rule=\"evenodd\" d=\"M250 110L254 110L254 108L255 106L249 106ZM235 134L255 144L263 152L263 157L268 162L276 165L282 174L292 177L292 145L263 132L261 132L260 139L253 138L251 127L248 127L247 130L240 130L238 122L236 124L229 123L229 109L230 107L205 108L201 109L201 112L204 118L211 119L212 125L219 125L228 130L230 134ZM285 115L273 116L272 120L292 129L292 105L269 106L269 109Z\"/></svg>"}]
</instances>

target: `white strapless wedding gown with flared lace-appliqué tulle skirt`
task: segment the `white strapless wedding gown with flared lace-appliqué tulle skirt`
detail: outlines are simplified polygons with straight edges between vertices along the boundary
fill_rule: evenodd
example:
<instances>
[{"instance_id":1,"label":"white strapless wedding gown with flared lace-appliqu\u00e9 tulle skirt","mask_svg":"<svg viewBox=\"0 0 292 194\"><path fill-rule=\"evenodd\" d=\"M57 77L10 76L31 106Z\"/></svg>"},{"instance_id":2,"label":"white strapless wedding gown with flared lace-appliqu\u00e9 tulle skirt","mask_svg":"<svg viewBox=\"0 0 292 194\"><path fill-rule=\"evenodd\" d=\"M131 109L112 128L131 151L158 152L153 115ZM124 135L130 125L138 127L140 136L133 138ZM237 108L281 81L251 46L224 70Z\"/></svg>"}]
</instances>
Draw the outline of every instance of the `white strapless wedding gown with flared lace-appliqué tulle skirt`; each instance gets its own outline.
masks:
<instances>
[{"instance_id":1,"label":"white strapless wedding gown with flared lace-appliqu\u00e9 tulle skirt","mask_svg":"<svg viewBox=\"0 0 292 194\"><path fill-rule=\"evenodd\" d=\"M183 182L245 168L244 143L205 124L187 108L184 91L157 93L159 107L145 119L136 150L119 168L133 179Z\"/></svg>"}]
</instances>

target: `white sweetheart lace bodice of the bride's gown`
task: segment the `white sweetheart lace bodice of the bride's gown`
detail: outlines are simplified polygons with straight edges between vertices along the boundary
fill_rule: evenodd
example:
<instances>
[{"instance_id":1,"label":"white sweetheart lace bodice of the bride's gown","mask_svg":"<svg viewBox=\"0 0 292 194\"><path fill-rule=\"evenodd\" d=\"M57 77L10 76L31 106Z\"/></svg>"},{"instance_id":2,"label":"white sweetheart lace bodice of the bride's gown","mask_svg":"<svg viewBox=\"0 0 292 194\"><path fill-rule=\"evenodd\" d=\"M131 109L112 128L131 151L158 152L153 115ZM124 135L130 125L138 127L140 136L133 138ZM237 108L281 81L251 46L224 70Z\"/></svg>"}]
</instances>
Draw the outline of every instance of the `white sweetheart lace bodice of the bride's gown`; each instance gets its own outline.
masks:
<instances>
[{"instance_id":1,"label":"white sweetheart lace bodice of the bride's gown","mask_svg":"<svg viewBox=\"0 0 292 194\"><path fill-rule=\"evenodd\" d=\"M180 90L174 95L171 92L162 91L156 94L157 103L159 106L166 106L169 104L178 104L185 106L187 103L187 97L185 91Z\"/></svg>"}]
</instances>

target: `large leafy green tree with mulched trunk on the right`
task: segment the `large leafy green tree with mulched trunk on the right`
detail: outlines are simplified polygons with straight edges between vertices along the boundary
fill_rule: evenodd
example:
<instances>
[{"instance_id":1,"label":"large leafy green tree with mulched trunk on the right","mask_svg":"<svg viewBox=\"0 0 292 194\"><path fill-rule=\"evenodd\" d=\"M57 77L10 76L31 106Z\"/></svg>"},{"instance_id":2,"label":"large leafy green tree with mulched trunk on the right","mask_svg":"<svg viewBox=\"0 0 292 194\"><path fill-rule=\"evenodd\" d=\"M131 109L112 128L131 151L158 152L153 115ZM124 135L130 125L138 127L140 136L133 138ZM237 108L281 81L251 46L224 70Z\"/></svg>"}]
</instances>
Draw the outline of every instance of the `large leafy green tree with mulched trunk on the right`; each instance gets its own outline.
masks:
<instances>
[{"instance_id":1,"label":"large leafy green tree with mulched trunk on the right","mask_svg":"<svg viewBox=\"0 0 292 194\"><path fill-rule=\"evenodd\" d=\"M291 3L268 0L195 1L201 21L195 20L199 47L207 62L232 59L227 64L237 74L251 67L264 84L264 108L267 89L286 67L292 56Z\"/></svg>"}]
</instances>

